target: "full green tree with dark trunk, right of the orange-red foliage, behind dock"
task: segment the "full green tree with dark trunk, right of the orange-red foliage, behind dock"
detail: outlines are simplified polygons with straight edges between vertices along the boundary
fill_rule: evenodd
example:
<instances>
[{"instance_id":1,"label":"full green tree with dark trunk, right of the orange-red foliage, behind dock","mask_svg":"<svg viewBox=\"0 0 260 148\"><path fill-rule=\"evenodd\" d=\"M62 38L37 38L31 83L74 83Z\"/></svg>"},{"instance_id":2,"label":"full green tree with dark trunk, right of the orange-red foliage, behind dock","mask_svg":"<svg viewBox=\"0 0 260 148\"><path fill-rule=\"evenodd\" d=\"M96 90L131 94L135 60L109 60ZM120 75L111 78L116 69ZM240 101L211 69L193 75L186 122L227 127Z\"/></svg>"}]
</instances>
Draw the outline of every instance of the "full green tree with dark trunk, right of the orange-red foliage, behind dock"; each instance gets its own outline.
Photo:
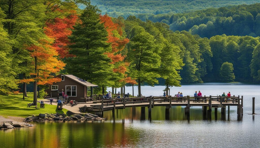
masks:
<instances>
[{"instance_id":1,"label":"full green tree with dark trunk, right of the orange-red foliage, behind dock","mask_svg":"<svg viewBox=\"0 0 260 148\"><path fill-rule=\"evenodd\" d=\"M132 28L130 42L128 43L127 61L130 63L130 75L138 81L138 95L141 96L141 84L144 82L153 86L158 83L156 78L160 77L158 68L160 67L159 52L155 48L153 36L147 33L143 27L134 26Z\"/></svg>"}]
</instances>

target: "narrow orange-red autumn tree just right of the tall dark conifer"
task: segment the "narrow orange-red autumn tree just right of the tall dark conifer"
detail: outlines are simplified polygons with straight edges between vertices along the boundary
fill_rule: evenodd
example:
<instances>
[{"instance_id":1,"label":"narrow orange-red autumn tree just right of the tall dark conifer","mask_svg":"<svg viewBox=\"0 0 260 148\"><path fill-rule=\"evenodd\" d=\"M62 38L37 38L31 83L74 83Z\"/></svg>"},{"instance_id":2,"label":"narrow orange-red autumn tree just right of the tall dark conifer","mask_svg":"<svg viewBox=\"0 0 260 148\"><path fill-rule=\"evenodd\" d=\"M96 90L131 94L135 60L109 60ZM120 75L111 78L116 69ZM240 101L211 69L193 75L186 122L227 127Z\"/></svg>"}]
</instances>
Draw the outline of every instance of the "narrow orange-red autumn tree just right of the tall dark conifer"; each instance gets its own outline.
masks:
<instances>
[{"instance_id":1,"label":"narrow orange-red autumn tree just right of the tall dark conifer","mask_svg":"<svg viewBox=\"0 0 260 148\"><path fill-rule=\"evenodd\" d=\"M110 43L112 46L112 52L106 53L108 57L112 60L111 64L114 65L114 75L112 76L112 89L114 87L122 87L126 83L128 83L128 81L125 81L126 79L131 79L130 77L127 77L126 74L129 64L124 61L125 56L122 55L122 50L129 42L129 39L123 36L123 23L120 22L120 20L116 20L115 23L107 14L103 16L101 15L100 20L101 23L104 23L105 29L108 32L107 42Z\"/></svg>"}]
</instances>

